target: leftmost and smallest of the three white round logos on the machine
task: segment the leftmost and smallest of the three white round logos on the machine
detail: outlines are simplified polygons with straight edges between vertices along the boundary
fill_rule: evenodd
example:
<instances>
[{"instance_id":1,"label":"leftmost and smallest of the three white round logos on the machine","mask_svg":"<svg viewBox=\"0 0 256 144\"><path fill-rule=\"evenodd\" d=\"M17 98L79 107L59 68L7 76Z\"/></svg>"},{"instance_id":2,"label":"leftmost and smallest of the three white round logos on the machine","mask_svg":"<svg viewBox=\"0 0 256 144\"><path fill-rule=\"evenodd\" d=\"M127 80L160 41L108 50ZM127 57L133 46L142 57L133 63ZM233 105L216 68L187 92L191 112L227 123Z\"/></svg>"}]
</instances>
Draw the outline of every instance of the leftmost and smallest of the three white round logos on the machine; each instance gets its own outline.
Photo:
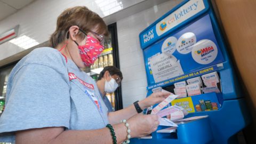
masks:
<instances>
[{"instance_id":1,"label":"leftmost and smallest of the three white round logos on the machine","mask_svg":"<svg viewBox=\"0 0 256 144\"><path fill-rule=\"evenodd\" d=\"M162 53L172 54L176 50L177 38L176 37L168 37L165 39L162 45Z\"/></svg>"}]
</instances>

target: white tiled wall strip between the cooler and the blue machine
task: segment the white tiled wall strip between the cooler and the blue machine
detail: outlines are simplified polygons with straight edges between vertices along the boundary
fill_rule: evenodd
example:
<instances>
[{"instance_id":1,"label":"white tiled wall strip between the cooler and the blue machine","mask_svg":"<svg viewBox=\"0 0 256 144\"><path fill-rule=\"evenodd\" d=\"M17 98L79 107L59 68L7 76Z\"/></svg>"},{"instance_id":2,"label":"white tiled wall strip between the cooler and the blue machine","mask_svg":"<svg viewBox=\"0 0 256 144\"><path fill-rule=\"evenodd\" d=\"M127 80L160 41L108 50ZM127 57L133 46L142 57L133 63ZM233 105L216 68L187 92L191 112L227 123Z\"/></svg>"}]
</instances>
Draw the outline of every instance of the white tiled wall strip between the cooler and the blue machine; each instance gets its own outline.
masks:
<instances>
[{"instance_id":1,"label":"white tiled wall strip between the cooler and the blue machine","mask_svg":"<svg viewBox=\"0 0 256 144\"><path fill-rule=\"evenodd\" d=\"M119 60L124 77L124 107L144 99L147 94L147 78L139 33L179 3L181 0L168 1L117 21Z\"/></svg>"}]
</instances>

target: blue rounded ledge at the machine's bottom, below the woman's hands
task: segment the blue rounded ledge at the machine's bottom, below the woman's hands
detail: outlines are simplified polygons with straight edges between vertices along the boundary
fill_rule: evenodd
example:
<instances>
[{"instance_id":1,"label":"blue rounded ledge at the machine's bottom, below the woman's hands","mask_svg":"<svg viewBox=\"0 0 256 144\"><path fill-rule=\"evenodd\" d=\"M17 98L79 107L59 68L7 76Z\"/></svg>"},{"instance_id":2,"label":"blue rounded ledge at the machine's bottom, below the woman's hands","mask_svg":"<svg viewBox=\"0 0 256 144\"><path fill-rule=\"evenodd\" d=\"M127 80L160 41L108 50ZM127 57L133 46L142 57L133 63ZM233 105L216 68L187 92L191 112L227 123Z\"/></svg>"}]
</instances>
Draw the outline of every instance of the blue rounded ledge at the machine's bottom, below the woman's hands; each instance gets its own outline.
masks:
<instances>
[{"instance_id":1,"label":"blue rounded ledge at the machine's bottom, below the woman's hands","mask_svg":"<svg viewBox=\"0 0 256 144\"><path fill-rule=\"evenodd\" d=\"M166 129L159 126L158 130ZM152 133L152 139L141 139L141 143L210 143L213 141L212 129L209 117L194 121L179 122L178 127L171 133ZM133 141L132 141L133 142Z\"/></svg>"}]
</instances>

